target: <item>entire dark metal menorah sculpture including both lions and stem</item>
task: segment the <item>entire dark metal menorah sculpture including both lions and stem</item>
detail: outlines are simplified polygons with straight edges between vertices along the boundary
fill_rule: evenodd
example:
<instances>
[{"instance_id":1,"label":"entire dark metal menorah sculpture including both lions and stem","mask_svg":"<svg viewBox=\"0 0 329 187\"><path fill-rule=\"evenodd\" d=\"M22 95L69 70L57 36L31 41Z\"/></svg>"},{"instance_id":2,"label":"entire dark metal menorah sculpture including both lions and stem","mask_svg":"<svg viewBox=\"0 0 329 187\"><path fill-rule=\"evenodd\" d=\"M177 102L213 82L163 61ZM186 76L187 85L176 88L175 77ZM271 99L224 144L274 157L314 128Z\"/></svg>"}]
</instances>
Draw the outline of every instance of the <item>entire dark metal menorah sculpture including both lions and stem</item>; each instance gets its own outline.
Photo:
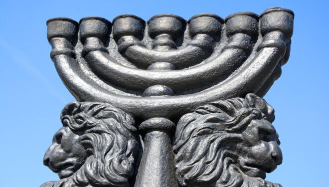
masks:
<instances>
[{"instance_id":1,"label":"entire dark metal menorah sculpture including both lions and stem","mask_svg":"<svg viewBox=\"0 0 329 187\"><path fill-rule=\"evenodd\" d=\"M77 99L62 111L43 187L277 187L273 108L294 13L222 19L125 14L47 21L50 57Z\"/></svg>"}]
</instances>

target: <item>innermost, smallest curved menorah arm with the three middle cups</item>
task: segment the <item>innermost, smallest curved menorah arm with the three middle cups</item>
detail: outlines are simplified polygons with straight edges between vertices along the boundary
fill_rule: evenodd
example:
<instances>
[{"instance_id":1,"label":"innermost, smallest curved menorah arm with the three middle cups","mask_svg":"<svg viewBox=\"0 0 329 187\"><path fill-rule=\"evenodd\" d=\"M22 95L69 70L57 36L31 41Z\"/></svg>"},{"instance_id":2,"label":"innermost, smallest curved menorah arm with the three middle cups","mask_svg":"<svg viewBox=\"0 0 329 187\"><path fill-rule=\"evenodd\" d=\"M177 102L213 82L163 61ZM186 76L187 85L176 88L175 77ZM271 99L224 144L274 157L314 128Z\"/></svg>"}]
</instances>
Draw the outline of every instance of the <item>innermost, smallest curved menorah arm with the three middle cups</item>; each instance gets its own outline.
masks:
<instances>
[{"instance_id":1,"label":"innermost, smallest curved menorah arm with the three middle cups","mask_svg":"<svg viewBox=\"0 0 329 187\"><path fill-rule=\"evenodd\" d=\"M134 24L127 26L127 22ZM148 33L155 39L155 50L146 48L138 39L144 32L145 21L134 15L114 18L113 37L119 45L119 52L138 67L146 69L153 63L166 62L182 69L200 63L211 55L214 37L220 36L223 19L215 14L203 13L187 22L192 40L177 50L169 49L177 48L174 38L184 33L186 21L172 14L156 15L148 21Z\"/></svg>"}]
</instances>

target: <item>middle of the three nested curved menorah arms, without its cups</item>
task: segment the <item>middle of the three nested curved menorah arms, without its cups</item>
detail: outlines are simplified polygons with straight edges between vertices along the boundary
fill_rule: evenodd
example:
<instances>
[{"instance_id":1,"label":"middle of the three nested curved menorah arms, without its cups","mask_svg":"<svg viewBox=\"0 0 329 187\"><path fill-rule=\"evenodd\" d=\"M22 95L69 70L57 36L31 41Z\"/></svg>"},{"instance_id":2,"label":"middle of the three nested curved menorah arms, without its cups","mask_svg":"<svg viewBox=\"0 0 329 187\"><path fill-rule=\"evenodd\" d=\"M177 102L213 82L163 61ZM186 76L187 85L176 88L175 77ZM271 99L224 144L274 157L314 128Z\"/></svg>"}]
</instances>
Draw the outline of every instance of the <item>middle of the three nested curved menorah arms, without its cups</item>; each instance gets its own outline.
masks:
<instances>
[{"instance_id":1,"label":"middle of the three nested curved menorah arms, without its cups","mask_svg":"<svg viewBox=\"0 0 329 187\"><path fill-rule=\"evenodd\" d=\"M102 51L89 52L85 59L96 74L117 86L125 85L126 88L143 92L153 85L165 85L179 92L227 78L247 57L242 49L226 49L219 57L204 65L174 71L126 67Z\"/></svg>"}]
</instances>

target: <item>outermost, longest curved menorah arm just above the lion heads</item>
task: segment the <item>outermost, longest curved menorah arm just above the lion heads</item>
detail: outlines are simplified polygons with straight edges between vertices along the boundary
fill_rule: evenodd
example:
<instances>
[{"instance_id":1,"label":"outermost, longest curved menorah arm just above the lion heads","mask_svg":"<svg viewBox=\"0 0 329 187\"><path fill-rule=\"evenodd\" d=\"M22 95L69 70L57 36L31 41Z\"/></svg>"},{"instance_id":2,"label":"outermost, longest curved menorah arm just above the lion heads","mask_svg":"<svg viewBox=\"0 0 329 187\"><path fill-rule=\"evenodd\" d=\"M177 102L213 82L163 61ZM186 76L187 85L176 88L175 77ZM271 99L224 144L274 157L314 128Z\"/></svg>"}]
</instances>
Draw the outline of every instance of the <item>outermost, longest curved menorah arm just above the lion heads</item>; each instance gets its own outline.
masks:
<instances>
[{"instance_id":1,"label":"outermost, longest curved menorah arm just above the lion heads","mask_svg":"<svg viewBox=\"0 0 329 187\"><path fill-rule=\"evenodd\" d=\"M70 21L64 21L65 24L67 22ZM54 26L57 27L58 25ZM52 29L54 29L52 25L48 24L48 30ZM64 84L79 101L107 102L142 119L166 117L174 121L182 114L190 112L202 104L219 99L241 97L247 93L256 93L270 78L277 64L285 55L285 40L288 39L289 41L291 35L289 36L289 32L288 34L282 33L278 34L277 28L268 29L267 32L263 33L266 39L259 45L260 47L257 53L252 59L243 63L236 70L235 74L228 76L225 80L211 88L182 96L141 97L121 95L113 90L106 89L100 84L100 81L91 79L88 72L82 71L79 63L70 54L63 53L55 55L53 61ZM73 31L72 34L74 35L76 32ZM53 38L58 37L65 38L68 41L71 41L71 38L73 38L65 34L60 36L57 34ZM51 35L48 38L50 41L53 39ZM74 43L74 41L71 42ZM58 47L61 48L62 46L53 45L54 49ZM97 53L101 52L89 52L89 54Z\"/></svg>"}]
</instances>

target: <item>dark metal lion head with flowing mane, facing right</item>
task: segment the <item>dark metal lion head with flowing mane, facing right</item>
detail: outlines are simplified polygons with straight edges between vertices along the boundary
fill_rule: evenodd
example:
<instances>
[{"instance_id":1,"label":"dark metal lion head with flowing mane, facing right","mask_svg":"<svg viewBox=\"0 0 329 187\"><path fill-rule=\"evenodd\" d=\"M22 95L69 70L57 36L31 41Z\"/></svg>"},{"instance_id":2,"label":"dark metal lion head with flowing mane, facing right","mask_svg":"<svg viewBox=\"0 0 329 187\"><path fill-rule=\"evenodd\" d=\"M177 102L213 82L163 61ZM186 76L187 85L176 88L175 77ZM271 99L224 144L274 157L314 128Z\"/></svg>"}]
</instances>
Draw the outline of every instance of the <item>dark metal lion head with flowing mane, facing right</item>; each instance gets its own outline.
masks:
<instances>
[{"instance_id":1,"label":"dark metal lion head with flowing mane, facing right","mask_svg":"<svg viewBox=\"0 0 329 187\"><path fill-rule=\"evenodd\" d=\"M254 94L184 115L173 147L179 186L281 187L264 180L282 163L273 121L273 108Z\"/></svg>"}]
</instances>

